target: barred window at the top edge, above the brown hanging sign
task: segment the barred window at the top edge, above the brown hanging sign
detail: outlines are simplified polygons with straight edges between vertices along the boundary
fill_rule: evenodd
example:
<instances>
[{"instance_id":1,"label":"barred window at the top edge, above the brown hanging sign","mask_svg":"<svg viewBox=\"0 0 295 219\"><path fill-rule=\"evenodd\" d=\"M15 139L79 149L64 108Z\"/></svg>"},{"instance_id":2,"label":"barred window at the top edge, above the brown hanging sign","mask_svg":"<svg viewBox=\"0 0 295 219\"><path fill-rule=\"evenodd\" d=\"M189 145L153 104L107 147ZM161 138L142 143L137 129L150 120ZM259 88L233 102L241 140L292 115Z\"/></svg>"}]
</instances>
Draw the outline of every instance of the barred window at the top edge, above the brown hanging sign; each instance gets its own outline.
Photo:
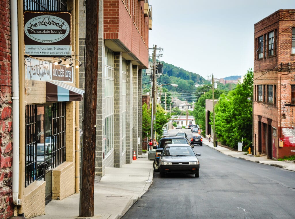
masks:
<instances>
[{"instance_id":1,"label":"barred window at the top edge, above the brown hanging sign","mask_svg":"<svg viewBox=\"0 0 295 219\"><path fill-rule=\"evenodd\" d=\"M67 11L67 0L24 0L24 11Z\"/></svg>"}]
</instances>

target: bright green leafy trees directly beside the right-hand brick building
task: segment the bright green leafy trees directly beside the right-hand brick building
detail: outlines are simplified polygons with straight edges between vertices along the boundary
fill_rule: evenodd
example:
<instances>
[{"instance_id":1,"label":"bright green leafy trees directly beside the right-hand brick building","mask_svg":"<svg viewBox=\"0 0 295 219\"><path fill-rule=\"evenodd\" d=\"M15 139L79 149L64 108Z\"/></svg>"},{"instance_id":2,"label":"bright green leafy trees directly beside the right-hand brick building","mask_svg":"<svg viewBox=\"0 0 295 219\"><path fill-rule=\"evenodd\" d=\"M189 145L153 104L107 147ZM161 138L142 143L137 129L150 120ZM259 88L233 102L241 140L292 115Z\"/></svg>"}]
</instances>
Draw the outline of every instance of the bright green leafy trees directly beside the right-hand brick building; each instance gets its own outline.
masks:
<instances>
[{"instance_id":1,"label":"bright green leafy trees directly beside the right-hand brick building","mask_svg":"<svg viewBox=\"0 0 295 219\"><path fill-rule=\"evenodd\" d=\"M219 141L237 149L238 142L252 145L253 71L249 69L244 82L222 94L215 107L215 131Z\"/></svg>"}]
</instances>

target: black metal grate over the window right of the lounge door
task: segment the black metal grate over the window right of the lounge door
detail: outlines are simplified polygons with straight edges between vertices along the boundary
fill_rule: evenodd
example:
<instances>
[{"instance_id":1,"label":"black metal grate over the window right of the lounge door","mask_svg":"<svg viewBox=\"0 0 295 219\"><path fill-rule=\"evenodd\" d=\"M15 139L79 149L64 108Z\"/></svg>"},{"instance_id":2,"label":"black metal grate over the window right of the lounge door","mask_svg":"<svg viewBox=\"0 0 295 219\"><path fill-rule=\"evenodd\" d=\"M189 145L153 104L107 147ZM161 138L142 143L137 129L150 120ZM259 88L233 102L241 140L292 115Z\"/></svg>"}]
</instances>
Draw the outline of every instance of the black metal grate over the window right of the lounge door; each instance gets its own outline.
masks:
<instances>
[{"instance_id":1,"label":"black metal grate over the window right of the lounge door","mask_svg":"<svg viewBox=\"0 0 295 219\"><path fill-rule=\"evenodd\" d=\"M53 122L53 166L65 162L65 102L58 102L52 105L52 122Z\"/></svg>"}]
</instances>

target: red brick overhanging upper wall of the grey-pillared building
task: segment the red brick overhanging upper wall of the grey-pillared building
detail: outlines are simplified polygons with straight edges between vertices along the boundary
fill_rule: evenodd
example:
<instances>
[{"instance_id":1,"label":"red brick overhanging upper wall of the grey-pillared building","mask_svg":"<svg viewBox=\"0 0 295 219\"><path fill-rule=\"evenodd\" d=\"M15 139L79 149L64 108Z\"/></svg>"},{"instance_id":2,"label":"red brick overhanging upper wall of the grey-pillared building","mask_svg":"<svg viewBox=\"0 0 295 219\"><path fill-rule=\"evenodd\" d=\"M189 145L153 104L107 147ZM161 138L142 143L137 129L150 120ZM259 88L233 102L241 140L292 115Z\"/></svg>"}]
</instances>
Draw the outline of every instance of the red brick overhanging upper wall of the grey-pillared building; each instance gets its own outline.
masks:
<instances>
[{"instance_id":1,"label":"red brick overhanging upper wall of the grey-pillared building","mask_svg":"<svg viewBox=\"0 0 295 219\"><path fill-rule=\"evenodd\" d=\"M133 8L133 2L138 3ZM144 1L130 1L131 9L122 0L104 1L104 39L118 39L139 61L148 66L148 17L144 17ZM135 24L133 10L139 14Z\"/></svg>"}]
</instances>

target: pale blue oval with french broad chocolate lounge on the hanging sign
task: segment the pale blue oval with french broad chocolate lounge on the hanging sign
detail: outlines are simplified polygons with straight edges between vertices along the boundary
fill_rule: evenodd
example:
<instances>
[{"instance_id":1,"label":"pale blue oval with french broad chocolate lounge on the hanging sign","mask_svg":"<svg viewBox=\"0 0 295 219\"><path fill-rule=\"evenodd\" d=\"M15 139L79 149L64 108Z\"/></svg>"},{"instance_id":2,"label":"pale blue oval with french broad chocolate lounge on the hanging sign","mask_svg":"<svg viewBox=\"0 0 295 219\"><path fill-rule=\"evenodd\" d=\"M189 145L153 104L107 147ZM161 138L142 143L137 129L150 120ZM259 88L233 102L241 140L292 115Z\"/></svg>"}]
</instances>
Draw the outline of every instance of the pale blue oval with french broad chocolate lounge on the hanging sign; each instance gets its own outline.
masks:
<instances>
[{"instance_id":1,"label":"pale blue oval with french broad chocolate lounge on the hanging sign","mask_svg":"<svg viewBox=\"0 0 295 219\"><path fill-rule=\"evenodd\" d=\"M70 33L68 23L57 16L41 15L27 21L25 34L40 43L54 43L64 39Z\"/></svg>"}]
</instances>

